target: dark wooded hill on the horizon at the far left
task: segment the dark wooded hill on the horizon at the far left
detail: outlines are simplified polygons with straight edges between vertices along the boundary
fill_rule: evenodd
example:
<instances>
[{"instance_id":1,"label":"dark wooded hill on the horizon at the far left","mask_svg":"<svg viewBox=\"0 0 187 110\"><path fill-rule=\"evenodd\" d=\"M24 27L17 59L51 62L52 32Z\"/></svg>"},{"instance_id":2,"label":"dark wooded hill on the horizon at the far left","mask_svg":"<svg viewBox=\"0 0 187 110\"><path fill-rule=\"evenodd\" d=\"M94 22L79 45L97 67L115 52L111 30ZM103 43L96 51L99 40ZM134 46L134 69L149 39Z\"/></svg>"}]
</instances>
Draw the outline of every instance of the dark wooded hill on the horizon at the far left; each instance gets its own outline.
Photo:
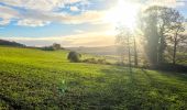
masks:
<instances>
[{"instance_id":1,"label":"dark wooded hill on the horizon at the far left","mask_svg":"<svg viewBox=\"0 0 187 110\"><path fill-rule=\"evenodd\" d=\"M24 44L16 43L16 42L10 42L6 40L0 40L0 45L6 45L6 46L19 46L19 47L24 47Z\"/></svg>"}]
</instances>

